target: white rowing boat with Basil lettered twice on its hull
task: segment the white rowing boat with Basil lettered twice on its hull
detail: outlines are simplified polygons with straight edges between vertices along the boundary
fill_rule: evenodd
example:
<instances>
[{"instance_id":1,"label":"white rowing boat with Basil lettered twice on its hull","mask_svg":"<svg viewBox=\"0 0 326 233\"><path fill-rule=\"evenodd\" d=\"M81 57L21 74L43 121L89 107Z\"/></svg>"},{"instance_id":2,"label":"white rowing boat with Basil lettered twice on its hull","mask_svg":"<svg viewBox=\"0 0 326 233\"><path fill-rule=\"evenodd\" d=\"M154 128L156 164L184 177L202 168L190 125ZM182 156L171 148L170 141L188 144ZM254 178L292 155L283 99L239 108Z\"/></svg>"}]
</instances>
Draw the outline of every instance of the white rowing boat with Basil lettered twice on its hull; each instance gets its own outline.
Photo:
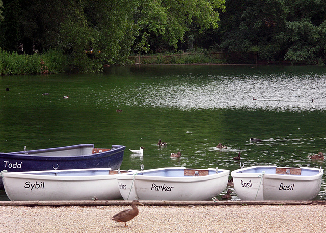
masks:
<instances>
[{"instance_id":1,"label":"white rowing boat with Basil lettered twice on its hull","mask_svg":"<svg viewBox=\"0 0 326 233\"><path fill-rule=\"evenodd\" d=\"M252 166L231 172L241 200L312 200L321 186L320 168Z\"/></svg>"}]
</instances>

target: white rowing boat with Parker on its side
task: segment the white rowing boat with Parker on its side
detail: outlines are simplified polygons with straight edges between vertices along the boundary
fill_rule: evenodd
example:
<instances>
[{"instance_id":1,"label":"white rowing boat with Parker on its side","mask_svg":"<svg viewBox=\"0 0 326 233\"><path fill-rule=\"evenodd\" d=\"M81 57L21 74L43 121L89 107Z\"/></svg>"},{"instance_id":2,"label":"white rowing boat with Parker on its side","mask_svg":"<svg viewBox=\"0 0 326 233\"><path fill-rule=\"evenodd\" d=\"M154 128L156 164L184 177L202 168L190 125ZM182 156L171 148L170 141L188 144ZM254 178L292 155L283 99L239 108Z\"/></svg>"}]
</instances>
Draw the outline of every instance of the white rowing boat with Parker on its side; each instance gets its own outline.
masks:
<instances>
[{"instance_id":1,"label":"white rowing boat with Parker on its side","mask_svg":"<svg viewBox=\"0 0 326 233\"><path fill-rule=\"evenodd\" d=\"M121 174L117 181L125 200L211 200L226 188L229 173L168 167Z\"/></svg>"}]
</instances>

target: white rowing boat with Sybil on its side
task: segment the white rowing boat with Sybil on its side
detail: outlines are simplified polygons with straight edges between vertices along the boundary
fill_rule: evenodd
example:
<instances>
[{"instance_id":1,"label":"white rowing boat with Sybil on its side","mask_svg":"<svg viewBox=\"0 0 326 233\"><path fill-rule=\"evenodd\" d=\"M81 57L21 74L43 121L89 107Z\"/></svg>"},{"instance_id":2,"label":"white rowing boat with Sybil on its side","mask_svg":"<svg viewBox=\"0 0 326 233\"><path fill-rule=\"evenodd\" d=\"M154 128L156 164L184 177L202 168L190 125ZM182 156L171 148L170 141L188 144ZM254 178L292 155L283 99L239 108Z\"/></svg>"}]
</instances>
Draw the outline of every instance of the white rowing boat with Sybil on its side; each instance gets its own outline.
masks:
<instances>
[{"instance_id":1,"label":"white rowing boat with Sybil on its side","mask_svg":"<svg viewBox=\"0 0 326 233\"><path fill-rule=\"evenodd\" d=\"M116 176L128 171L69 169L6 172L1 176L11 201L121 199Z\"/></svg>"}]
</instances>

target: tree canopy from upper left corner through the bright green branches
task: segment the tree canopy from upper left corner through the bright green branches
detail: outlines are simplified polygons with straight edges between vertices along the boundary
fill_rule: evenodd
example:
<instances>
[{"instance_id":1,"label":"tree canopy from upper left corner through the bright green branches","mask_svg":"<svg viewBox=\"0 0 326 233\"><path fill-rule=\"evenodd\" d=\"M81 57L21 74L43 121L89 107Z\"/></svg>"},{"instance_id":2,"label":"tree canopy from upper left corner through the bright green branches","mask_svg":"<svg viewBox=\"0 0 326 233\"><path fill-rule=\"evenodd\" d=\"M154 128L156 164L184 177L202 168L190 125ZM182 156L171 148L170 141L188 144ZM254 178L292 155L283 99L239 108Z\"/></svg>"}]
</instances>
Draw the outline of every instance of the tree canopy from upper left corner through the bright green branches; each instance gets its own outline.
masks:
<instances>
[{"instance_id":1,"label":"tree canopy from upper left corner through the bright green branches","mask_svg":"<svg viewBox=\"0 0 326 233\"><path fill-rule=\"evenodd\" d=\"M176 49L193 23L218 27L224 0L3 0L0 47L42 52L60 48L79 67L112 64L134 49L149 51L153 38ZM88 57L91 52L93 61ZM100 51L100 52L99 52Z\"/></svg>"}]
</instances>

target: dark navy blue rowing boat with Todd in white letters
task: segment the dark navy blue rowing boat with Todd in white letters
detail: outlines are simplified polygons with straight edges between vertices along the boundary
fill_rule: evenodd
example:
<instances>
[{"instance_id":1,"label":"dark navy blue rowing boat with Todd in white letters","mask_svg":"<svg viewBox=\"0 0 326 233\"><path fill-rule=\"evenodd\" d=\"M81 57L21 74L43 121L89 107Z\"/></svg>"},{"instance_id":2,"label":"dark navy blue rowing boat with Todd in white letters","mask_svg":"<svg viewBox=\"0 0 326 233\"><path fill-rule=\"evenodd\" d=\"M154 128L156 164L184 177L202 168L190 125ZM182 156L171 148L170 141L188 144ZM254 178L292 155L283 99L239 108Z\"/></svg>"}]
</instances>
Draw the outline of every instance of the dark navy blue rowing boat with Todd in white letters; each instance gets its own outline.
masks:
<instances>
[{"instance_id":1,"label":"dark navy blue rowing boat with Todd in white letters","mask_svg":"<svg viewBox=\"0 0 326 233\"><path fill-rule=\"evenodd\" d=\"M112 145L111 149L97 149L94 144L80 144L57 148L0 153L0 171L43 171L53 169L118 169L125 146ZM0 189L3 189L0 180Z\"/></svg>"}]
</instances>

